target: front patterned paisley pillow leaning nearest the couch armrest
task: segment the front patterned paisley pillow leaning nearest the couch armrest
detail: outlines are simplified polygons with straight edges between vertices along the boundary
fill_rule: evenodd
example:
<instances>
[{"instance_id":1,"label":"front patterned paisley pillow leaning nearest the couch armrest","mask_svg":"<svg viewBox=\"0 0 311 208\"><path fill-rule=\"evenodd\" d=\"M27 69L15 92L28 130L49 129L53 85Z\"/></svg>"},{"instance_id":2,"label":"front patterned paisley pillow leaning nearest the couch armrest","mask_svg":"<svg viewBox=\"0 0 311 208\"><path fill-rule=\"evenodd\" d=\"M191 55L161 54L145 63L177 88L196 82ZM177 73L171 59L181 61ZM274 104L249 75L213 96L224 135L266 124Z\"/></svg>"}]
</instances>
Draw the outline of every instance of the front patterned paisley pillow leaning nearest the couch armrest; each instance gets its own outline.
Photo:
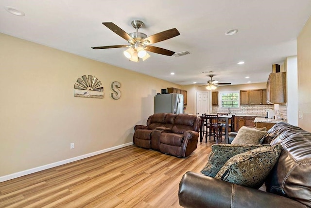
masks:
<instances>
[{"instance_id":1,"label":"front patterned paisley pillow leaning nearest the couch armrest","mask_svg":"<svg viewBox=\"0 0 311 208\"><path fill-rule=\"evenodd\" d=\"M215 178L259 189L282 151L282 145L259 147L231 157Z\"/></svg>"}]
</instances>

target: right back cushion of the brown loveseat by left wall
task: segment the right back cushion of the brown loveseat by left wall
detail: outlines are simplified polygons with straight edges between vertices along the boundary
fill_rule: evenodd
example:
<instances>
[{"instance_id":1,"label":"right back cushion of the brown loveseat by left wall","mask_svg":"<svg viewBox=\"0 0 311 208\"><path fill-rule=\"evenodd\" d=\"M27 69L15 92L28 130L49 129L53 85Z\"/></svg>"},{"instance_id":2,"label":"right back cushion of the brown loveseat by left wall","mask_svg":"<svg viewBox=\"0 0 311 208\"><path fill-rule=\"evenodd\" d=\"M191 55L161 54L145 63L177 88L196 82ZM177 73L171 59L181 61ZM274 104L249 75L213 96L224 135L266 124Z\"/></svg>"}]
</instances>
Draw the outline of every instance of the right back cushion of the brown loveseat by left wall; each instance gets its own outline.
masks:
<instances>
[{"instance_id":1,"label":"right back cushion of the brown loveseat by left wall","mask_svg":"<svg viewBox=\"0 0 311 208\"><path fill-rule=\"evenodd\" d=\"M186 131L196 131L197 130L197 119L195 115L188 114L177 114L175 118L175 123L172 127L173 133L185 133ZM200 126L199 126L200 128ZM196 131L198 132L198 130Z\"/></svg>"}]
</instances>

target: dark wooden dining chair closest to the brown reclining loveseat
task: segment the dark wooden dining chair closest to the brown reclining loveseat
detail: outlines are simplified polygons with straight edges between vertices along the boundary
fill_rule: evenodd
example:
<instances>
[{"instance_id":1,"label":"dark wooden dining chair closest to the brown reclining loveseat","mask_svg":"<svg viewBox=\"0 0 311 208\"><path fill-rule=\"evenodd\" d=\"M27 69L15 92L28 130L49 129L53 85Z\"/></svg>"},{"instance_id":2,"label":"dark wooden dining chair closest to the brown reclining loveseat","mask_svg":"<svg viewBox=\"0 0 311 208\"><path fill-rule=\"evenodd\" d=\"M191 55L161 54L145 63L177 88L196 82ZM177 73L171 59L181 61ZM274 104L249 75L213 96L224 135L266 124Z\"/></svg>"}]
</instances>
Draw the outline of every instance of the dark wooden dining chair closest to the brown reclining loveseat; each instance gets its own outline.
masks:
<instances>
[{"instance_id":1,"label":"dark wooden dining chair closest to the brown reclining loveseat","mask_svg":"<svg viewBox=\"0 0 311 208\"><path fill-rule=\"evenodd\" d=\"M216 143L218 141L222 141L222 126L218 123L218 116L217 115L206 115L206 134L205 134L205 143L207 143L207 136L214 137L214 141L216 139ZM208 130L208 131L207 131Z\"/></svg>"}]
</instances>

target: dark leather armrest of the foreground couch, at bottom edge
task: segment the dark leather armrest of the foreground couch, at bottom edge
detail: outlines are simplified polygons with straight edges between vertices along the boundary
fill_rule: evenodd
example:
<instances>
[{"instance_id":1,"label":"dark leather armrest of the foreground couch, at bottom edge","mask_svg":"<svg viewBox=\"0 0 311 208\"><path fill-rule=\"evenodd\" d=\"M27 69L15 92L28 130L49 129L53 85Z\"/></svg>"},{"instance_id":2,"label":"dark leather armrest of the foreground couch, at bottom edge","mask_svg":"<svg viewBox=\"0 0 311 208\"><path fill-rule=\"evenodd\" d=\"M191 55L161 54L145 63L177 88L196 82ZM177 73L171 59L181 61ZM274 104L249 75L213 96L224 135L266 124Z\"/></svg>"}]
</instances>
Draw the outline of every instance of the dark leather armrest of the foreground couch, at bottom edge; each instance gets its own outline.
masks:
<instances>
[{"instance_id":1,"label":"dark leather armrest of the foreground couch, at bottom edge","mask_svg":"<svg viewBox=\"0 0 311 208\"><path fill-rule=\"evenodd\" d=\"M283 196L258 189L243 187L187 172L182 177L178 191L179 204L184 208L300 208L305 205Z\"/></svg>"}]
</instances>

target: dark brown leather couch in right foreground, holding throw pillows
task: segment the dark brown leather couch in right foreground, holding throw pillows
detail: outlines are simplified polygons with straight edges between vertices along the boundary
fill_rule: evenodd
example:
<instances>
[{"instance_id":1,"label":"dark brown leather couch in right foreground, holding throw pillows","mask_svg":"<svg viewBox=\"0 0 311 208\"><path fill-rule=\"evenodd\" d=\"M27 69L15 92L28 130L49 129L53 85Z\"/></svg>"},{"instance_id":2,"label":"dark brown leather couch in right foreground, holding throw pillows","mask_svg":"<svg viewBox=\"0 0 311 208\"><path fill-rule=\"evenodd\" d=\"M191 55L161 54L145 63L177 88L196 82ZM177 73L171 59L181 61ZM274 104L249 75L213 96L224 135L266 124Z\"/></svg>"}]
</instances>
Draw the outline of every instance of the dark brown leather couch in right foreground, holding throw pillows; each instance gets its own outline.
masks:
<instances>
[{"instance_id":1,"label":"dark brown leather couch in right foreground, holding throw pillows","mask_svg":"<svg viewBox=\"0 0 311 208\"><path fill-rule=\"evenodd\" d=\"M266 192L187 172L179 184L185 208L311 207L311 133L281 122L265 135L283 150L266 178Z\"/></svg>"}]
</instances>

